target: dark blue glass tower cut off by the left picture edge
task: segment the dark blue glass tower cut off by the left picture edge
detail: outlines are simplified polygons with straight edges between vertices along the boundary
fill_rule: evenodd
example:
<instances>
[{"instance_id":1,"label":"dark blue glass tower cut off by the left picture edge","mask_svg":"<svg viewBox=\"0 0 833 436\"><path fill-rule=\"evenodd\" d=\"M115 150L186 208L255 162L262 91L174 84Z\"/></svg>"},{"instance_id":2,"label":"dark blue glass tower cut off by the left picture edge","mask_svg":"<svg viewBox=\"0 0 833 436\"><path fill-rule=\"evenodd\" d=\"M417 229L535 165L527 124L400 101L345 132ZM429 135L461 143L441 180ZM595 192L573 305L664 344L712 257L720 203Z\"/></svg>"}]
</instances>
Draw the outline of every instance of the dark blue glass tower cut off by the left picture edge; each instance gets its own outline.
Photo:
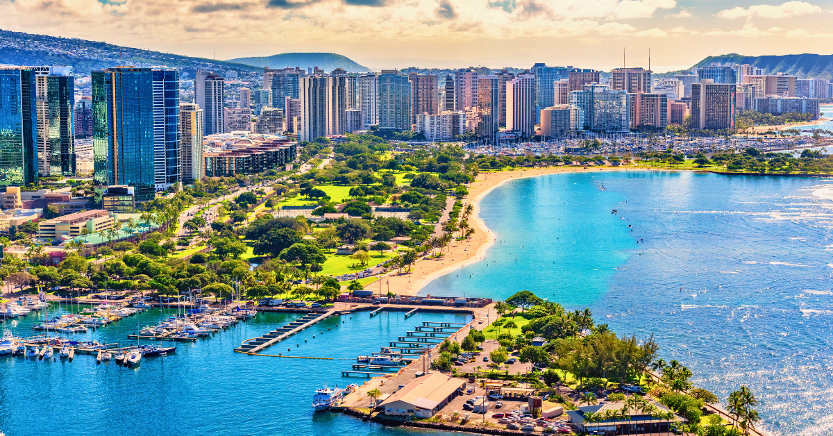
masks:
<instances>
[{"instance_id":1,"label":"dark blue glass tower cut off by the left picture edge","mask_svg":"<svg viewBox=\"0 0 833 436\"><path fill-rule=\"evenodd\" d=\"M37 183L37 119L32 68L0 69L0 185Z\"/></svg>"}]
</instances>

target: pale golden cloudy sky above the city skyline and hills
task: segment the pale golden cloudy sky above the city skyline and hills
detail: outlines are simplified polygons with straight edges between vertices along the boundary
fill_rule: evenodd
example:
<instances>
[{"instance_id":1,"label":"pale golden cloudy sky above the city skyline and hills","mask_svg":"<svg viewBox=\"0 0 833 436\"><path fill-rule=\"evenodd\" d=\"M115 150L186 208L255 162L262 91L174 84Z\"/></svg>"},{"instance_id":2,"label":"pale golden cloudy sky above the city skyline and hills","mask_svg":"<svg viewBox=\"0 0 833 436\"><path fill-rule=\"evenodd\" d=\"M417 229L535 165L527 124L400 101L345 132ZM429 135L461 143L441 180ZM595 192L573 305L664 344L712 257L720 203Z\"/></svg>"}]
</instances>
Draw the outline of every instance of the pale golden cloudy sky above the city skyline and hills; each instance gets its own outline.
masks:
<instances>
[{"instance_id":1,"label":"pale golden cloudy sky above the city skyline and hills","mask_svg":"<svg viewBox=\"0 0 833 436\"><path fill-rule=\"evenodd\" d=\"M831 54L833 0L0 0L12 31L203 58L329 52L372 69L690 68ZM623 61L624 51L624 61Z\"/></svg>"}]
</instances>

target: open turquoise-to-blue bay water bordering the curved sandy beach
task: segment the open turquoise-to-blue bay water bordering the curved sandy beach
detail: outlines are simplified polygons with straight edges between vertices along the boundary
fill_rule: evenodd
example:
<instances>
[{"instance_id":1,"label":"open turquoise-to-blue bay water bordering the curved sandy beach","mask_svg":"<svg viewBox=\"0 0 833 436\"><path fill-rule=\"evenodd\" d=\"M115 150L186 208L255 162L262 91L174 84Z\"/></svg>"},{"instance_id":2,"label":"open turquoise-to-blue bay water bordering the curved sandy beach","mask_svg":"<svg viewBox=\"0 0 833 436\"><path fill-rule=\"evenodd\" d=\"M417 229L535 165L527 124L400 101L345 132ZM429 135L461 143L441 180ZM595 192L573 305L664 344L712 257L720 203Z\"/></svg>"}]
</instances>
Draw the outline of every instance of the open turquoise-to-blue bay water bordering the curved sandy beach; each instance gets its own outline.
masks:
<instances>
[{"instance_id":1,"label":"open turquoise-to-blue bay water bordering the curved sandy beach","mask_svg":"<svg viewBox=\"0 0 833 436\"><path fill-rule=\"evenodd\" d=\"M589 307L617 333L655 333L662 358L681 360L721 398L750 386L761 428L828 435L831 211L833 183L815 178L599 171L521 179L482 200L481 218L500 241L486 260L423 293L506 298L527 289Z\"/></svg>"}]
</instances>

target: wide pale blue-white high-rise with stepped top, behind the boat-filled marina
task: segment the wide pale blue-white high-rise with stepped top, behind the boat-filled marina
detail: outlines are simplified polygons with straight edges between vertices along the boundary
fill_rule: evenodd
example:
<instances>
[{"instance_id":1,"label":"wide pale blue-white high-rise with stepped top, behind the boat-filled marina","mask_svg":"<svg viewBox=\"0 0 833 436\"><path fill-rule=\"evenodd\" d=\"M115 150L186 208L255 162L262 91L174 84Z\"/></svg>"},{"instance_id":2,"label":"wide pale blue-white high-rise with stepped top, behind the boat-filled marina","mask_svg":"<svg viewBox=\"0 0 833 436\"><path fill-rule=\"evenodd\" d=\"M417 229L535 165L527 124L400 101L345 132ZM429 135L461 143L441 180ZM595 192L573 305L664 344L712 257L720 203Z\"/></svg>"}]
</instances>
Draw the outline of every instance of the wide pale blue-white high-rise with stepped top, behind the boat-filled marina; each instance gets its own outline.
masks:
<instances>
[{"instance_id":1,"label":"wide pale blue-white high-rise with stepped top, behind the boat-filled marina","mask_svg":"<svg viewBox=\"0 0 833 436\"><path fill-rule=\"evenodd\" d=\"M570 93L571 105L584 111L584 128L601 132L627 132L631 128L630 95L591 83Z\"/></svg>"}]
</instances>

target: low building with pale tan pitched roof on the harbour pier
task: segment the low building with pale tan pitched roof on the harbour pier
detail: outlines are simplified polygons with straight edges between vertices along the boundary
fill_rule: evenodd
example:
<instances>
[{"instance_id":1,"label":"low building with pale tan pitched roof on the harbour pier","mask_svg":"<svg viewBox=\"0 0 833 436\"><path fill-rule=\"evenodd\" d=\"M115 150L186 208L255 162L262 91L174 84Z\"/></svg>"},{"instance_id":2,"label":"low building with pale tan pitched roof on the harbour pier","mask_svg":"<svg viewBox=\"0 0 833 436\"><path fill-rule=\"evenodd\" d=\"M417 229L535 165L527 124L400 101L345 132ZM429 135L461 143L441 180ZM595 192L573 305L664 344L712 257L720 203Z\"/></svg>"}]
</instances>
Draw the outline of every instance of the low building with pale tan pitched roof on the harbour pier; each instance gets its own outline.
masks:
<instances>
[{"instance_id":1,"label":"low building with pale tan pitched roof on the harbour pier","mask_svg":"<svg viewBox=\"0 0 833 436\"><path fill-rule=\"evenodd\" d=\"M415 378L379 405L386 415L431 418L452 399L462 395L465 387L465 378L431 373Z\"/></svg>"}]
</instances>

